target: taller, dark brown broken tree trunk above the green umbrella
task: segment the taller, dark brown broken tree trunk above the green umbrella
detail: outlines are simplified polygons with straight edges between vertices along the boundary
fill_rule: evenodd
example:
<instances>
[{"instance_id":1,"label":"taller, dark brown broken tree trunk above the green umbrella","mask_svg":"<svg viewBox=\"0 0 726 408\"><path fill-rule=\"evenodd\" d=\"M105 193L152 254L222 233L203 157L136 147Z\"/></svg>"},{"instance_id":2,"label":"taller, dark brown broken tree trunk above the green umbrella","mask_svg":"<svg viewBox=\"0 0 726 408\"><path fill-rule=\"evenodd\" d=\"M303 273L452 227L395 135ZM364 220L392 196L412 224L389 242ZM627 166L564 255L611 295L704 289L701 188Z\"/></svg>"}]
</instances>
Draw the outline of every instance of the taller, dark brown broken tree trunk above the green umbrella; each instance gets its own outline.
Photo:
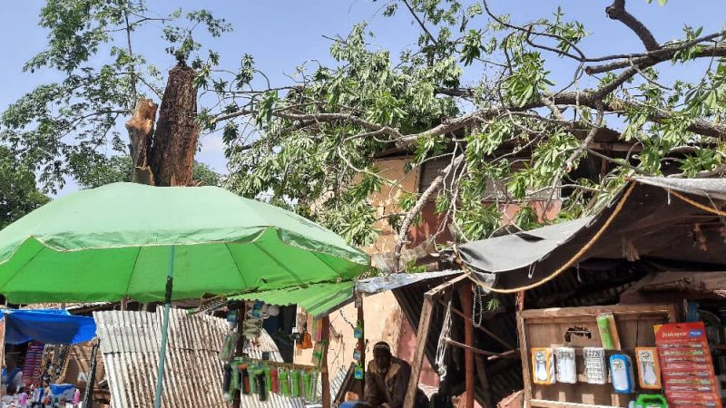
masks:
<instances>
[{"instance_id":1,"label":"taller, dark brown broken tree trunk above the green umbrella","mask_svg":"<svg viewBox=\"0 0 726 408\"><path fill-rule=\"evenodd\" d=\"M195 73L183 63L169 72L149 156L155 185L191 185L199 128Z\"/></svg>"}]
</instances>

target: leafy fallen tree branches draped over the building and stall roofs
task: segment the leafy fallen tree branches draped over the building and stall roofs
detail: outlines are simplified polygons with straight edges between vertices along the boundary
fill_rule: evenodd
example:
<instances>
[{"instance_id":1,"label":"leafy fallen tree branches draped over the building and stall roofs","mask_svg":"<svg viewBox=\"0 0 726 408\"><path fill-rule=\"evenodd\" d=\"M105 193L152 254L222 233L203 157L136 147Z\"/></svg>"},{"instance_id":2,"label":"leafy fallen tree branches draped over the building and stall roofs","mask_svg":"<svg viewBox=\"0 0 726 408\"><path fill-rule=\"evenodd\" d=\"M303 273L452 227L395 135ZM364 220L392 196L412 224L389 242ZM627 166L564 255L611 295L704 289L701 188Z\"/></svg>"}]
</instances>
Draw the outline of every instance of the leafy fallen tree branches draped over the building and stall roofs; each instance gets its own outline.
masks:
<instances>
[{"instance_id":1,"label":"leafy fallen tree branches draped over the building and stall roofs","mask_svg":"<svg viewBox=\"0 0 726 408\"><path fill-rule=\"evenodd\" d=\"M553 8L519 23L486 1L389 1L384 15L406 13L420 29L417 45L396 56L358 24L332 42L337 63L306 63L288 87L254 90L244 67L214 80L224 108L202 121L224 131L229 187L294 202L359 245L374 241L377 222L388 219L399 255L429 200L456 238L469 240L502 228L505 203L562 195L560 218L571 219L599 209L633 175L724 170L726 32L684 27L674 33L679 39L659 42L624 0L614 0L608 17L630 28L644 50L602 55L581 42L607 34ZM555 82L547 68L554 59L570 63L572 80ZM700 71L659 82L661 70L681 64ZM610 127L626 147L620 153L596 147ZM398 180L374 158L391 148L411 153L407 170L448 164L429 189L402 194L397 209L381 214L369 197ZM604 160L598 170L605 171L584 177L585 164L592 166L584 159ZM666 169L669 161L678 166ZM494 206L485 199L492 186ZM515 217L521 228L543 221L527 206Z\"/></svg>"}]
</instances>

